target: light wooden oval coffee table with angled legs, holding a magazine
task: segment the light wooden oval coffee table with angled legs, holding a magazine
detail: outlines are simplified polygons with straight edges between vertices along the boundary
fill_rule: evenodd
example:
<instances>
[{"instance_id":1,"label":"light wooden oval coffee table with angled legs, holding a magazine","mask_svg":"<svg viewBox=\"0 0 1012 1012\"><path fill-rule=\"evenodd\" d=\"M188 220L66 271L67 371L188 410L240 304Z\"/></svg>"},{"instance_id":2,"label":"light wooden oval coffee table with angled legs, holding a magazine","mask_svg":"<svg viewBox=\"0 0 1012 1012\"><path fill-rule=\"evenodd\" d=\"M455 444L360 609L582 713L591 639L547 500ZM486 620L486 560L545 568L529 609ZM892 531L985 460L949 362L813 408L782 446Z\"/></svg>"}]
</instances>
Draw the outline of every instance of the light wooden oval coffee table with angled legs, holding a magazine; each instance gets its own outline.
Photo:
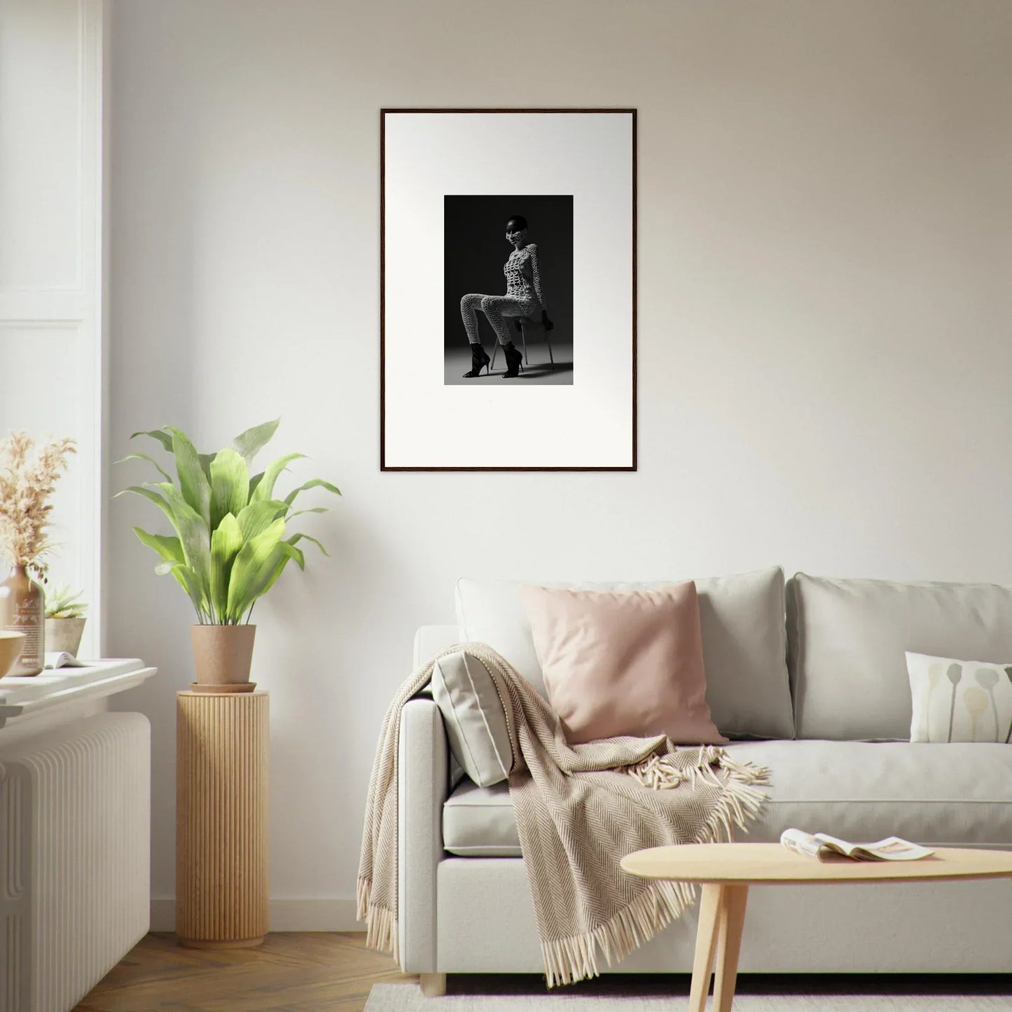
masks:
<instances>
[{"instance_id":1,"label":"light wooden oval coffee table with angled legs, holding a magazine","mask_svg":"<svg viewBox=\"0 0 1012 1012\"><path fill-rule=\"evenodd\" d=\"M750 886L1012 878L1012 851L937 847L919 861L818 861L779 843L693 843L638 850L621 860L641 878L700 882L699 928L689 1012L704 1012L713 953L713 1012L731 1012Z\"/></svg>"}]
</instances>

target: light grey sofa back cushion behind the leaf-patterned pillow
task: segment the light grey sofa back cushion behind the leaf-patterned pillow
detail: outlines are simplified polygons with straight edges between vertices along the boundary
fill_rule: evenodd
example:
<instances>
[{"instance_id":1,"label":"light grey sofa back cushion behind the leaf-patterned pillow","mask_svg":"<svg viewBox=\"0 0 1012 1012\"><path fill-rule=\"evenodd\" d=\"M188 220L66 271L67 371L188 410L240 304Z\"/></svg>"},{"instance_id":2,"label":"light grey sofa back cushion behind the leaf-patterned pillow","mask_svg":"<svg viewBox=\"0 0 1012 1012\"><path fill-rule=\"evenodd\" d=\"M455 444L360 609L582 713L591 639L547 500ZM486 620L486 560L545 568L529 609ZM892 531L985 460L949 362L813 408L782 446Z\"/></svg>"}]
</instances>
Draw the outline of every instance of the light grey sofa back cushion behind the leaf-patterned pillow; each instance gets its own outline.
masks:
<instances>
[{"instance_id":1,"label":"light grey sofa back cushion behind the leaf-patterned pillow","mask_svg":"<svg viewBox=\"0 0 1012 1012\"><path fill-rule=\"evenodd\" d=\"M910 739L906 652L1012 658L1012 587L829 580L787 585L798 738Z\"/></svg>"}]
</instances>

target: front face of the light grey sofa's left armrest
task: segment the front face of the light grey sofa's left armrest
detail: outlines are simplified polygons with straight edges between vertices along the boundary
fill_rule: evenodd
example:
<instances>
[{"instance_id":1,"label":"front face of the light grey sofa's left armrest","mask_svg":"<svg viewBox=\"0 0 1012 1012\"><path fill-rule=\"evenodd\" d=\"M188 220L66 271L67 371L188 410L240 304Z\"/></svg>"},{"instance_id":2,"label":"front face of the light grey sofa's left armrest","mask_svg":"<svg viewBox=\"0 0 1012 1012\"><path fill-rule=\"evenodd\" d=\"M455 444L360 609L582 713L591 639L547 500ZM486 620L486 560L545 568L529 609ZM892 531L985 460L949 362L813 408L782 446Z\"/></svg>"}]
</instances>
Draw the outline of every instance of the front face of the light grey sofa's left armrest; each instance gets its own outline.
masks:
<instances>
[{"instance_id":1,"label":"front face of the light grey sofa's left armrest","mask_svg":"<svg viewBox=\"0 0 1012 1012\"><path fill-rule=\"evenodd\" d=\"M432 974L436 972L436 866L443 856L449 750L442 714L431 699L411 699L401 711L397 776L401 965L409 974Z\"/></svg>"}]
</instances>

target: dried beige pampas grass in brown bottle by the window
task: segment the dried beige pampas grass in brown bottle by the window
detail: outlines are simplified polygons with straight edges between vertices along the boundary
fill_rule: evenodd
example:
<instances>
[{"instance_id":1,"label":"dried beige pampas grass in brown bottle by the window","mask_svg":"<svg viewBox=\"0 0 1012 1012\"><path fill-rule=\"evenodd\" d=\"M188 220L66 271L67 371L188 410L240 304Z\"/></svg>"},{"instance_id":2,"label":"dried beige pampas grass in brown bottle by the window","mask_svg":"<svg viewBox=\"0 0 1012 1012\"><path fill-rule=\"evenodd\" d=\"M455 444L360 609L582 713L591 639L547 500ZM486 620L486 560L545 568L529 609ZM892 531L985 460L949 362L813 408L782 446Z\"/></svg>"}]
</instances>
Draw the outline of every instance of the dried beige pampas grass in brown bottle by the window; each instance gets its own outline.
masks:
<instances>
[{"instance_id":1,"label":"dried beige pampas grass in brown bottle by the window","mask_svg":"<svg viewBox=\"0 0 1012 1012\"><path fill-rule=\"evenodd\" d=\"M26 432L0 440L0 546L13 566L27 566L45 580L50 498L76 453L73 439L55 439L37 447Z\"/></svg>"}]
</instances>

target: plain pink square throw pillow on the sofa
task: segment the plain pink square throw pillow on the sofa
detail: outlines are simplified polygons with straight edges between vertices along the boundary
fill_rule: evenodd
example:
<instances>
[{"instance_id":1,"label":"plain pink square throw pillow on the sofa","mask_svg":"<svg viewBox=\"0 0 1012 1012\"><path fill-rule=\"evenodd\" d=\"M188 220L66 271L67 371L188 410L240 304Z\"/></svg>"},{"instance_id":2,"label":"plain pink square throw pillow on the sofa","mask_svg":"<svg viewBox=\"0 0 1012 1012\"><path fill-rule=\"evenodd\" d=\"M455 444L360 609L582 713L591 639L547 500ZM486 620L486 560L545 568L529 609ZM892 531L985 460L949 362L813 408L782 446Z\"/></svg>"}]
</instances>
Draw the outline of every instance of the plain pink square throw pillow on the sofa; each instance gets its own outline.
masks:
<instances>
[{"instance_id":1,"label":"plain pink square throw pillow on the sofa","mask_svg":"<svg viewBox=\"0 0 1012 1012\"><path fill-rule=\"evenodd\" d=\"M549 702L570 744L667 735L721 744L709 715L695 584L520 588Z\"/></svg>"}]
</instances>

